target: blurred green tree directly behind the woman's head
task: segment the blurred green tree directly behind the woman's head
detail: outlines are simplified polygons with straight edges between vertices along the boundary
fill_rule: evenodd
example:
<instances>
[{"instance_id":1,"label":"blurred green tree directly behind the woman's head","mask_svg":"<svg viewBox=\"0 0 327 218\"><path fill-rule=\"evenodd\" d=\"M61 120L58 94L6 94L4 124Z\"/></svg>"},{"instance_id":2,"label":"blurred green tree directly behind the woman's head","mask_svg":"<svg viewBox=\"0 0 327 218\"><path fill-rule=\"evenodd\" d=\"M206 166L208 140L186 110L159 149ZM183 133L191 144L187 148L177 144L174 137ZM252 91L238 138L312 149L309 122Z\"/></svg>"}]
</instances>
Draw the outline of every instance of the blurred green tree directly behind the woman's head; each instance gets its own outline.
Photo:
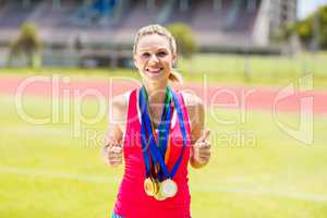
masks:
<instances>
[{"instance_id":1,"label":"blurred green tree directly behind the woman's head","mask_svg":"<svg viewBox=\"0 0 327 218\"><path fill-rule=\"evenodd\" d=\"M168 25L167 28L177 40L179 55L182 55L185 58L191 58L192 55L197 50L197 45L192 29L182 23Z\"/></svg>"}]
</instances>

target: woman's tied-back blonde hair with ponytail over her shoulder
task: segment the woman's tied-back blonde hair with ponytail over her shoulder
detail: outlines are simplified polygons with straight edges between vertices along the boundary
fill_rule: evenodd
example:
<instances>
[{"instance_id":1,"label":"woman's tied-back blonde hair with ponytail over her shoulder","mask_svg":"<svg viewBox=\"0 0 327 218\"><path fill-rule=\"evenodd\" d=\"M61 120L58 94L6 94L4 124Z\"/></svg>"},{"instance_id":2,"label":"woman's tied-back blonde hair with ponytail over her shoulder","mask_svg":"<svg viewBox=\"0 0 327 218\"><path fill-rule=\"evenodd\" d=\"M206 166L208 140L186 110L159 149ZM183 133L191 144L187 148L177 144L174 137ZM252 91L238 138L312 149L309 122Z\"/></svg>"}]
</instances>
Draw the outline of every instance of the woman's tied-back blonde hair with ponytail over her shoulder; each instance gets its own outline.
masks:
<instances>
[{"instance_id":1,"label":"woman's tied-back blonde hair with ponytail over her shoulder","mask_svg":"<svg viewBox=\"0 0 327 218\"><path fill-rule=\"evenodd\" d=\"M157 35L166 37L169 41L171 52L173 55L177 55L175 39L173 38L171 33L167 28L165 28L164 26L160 26L158 24L152 24L152 25L148 25L148 26L144 26L144 27L142 27L137 31L137 34L134 38L134 46L133 46L133 53L134 55L136 55L136 51L137 51L138 40L143 36L153 35L153 34L157 34ZM172 81L172 82L175 82L180 85L183 83L182 75L180 73L178 73L174 69L171 70L171 72L169 74L169 80Z\"/></svg>"}]
</instances>

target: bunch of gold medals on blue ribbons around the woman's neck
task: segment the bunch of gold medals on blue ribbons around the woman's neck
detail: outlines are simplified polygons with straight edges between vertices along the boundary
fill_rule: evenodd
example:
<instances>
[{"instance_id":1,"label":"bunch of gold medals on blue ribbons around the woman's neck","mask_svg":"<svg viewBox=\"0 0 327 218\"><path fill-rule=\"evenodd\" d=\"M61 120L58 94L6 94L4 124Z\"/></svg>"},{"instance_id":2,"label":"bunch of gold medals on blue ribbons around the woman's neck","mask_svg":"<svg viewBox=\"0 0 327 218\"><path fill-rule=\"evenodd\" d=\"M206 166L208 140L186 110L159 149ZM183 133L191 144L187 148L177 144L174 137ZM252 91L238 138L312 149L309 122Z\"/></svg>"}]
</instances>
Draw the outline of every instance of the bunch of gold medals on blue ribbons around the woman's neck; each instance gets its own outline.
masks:
<instances>
[{"instance_id":1,"label":"bunch of gold medals on blue ribbons around the woman's neck","mask_svg":"<svg viewBox=\"0 0 327 218\"><path fill-rule=\"evenodd\" d=\"M168 159L170 153L170 121L171 121L171 101L173 99L174 107L178 113L181 133L183 136L183 147L181 154L173 165L172 169L169 170ZM142 111L142 149L145 161L146 179L144 180L144 191L148 196L153 196L157 201L164 201L168 197L173 197L178 192L178 185L172 180L177 173L181 164L184 149L186 147L186 130L184 125L184 118L182 109L179 105L177 94L167 87L165 107L162 110L161 121L159 124L158 136L154 130L153 122L148 113L148 98L145 87L140 89L138 98L140 108ZM157 137L156 137L157 136ZM156 142L156 138L158 143ZM152 167L155 167L155 173L150 172Z\"/></svg>"}]
</instances>

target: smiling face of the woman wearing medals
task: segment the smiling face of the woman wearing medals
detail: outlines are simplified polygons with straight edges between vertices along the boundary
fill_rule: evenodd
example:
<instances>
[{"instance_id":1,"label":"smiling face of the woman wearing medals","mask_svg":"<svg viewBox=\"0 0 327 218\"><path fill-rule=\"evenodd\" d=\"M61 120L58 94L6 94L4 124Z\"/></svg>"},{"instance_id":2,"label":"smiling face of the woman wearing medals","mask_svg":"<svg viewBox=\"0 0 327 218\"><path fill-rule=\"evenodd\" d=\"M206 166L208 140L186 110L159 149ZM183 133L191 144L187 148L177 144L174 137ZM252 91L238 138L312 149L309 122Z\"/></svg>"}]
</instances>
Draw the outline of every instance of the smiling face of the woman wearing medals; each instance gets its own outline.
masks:
<instances>
[{"instance_id":1,"label":"smiling face of the woman wearing medals","mask_svg":"<svg viewBox=\"0 0 327 218\"><path fill-rule=\"evenodd\" d=\"M150 34L137 41L134 64L145 83L167 83L175 55L167 37Z\"/></svg>"}]
</instances>

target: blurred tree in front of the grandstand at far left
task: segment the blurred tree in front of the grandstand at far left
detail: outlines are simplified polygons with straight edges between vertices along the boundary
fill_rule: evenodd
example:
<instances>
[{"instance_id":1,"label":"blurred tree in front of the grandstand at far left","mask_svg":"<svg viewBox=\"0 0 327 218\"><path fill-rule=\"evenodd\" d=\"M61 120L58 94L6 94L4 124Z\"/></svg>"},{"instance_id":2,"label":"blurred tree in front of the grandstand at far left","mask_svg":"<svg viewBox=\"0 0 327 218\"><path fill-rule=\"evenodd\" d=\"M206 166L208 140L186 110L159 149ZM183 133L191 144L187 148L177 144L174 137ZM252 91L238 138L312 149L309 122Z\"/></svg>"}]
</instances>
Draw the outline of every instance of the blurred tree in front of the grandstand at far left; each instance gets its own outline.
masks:
<instances>
[{"instance_id":1,"label":"blurred tree in front of the grandstand at far left","mask_svg":"<svg viewBox=\"0 0 327 218\"><path fill-rule=\"evenodd\" d=\"M31 68L40 66L40 40L37 37L37 28L32 23L23 23L19 37L10 45L9 65L13 60L24 58Z\"/></svg>"}]
</instances>

